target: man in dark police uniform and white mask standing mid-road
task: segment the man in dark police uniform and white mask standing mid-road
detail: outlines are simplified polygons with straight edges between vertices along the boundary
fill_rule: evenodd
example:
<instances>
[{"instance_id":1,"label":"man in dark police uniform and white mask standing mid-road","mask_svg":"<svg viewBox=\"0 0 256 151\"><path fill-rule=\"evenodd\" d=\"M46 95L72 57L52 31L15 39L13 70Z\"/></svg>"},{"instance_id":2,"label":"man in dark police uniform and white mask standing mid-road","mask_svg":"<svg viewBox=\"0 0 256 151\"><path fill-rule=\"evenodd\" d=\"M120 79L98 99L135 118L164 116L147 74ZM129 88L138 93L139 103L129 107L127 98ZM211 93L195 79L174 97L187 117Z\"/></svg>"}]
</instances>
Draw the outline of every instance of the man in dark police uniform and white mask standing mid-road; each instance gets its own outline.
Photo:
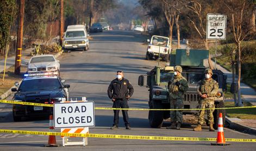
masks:
<instances>
[{"instance_id":1,"label":"man in dark police uniform and white mask standing mid-road","mask_svg":"<svg viewBox=\"0 0 256 151\"><path fill-rule=\"evenodd\" d=\"M116 72L116 79L108 87L108 96L113 102L113 108L129 108L128 100L133 95L133 86L128 79L123 78L123 72ZM114 124L110 129L118 129L119 111L114 110ZM130 129L128 110L122 110L123 121L126 129Z\"/></svg>"}]
</instances>

